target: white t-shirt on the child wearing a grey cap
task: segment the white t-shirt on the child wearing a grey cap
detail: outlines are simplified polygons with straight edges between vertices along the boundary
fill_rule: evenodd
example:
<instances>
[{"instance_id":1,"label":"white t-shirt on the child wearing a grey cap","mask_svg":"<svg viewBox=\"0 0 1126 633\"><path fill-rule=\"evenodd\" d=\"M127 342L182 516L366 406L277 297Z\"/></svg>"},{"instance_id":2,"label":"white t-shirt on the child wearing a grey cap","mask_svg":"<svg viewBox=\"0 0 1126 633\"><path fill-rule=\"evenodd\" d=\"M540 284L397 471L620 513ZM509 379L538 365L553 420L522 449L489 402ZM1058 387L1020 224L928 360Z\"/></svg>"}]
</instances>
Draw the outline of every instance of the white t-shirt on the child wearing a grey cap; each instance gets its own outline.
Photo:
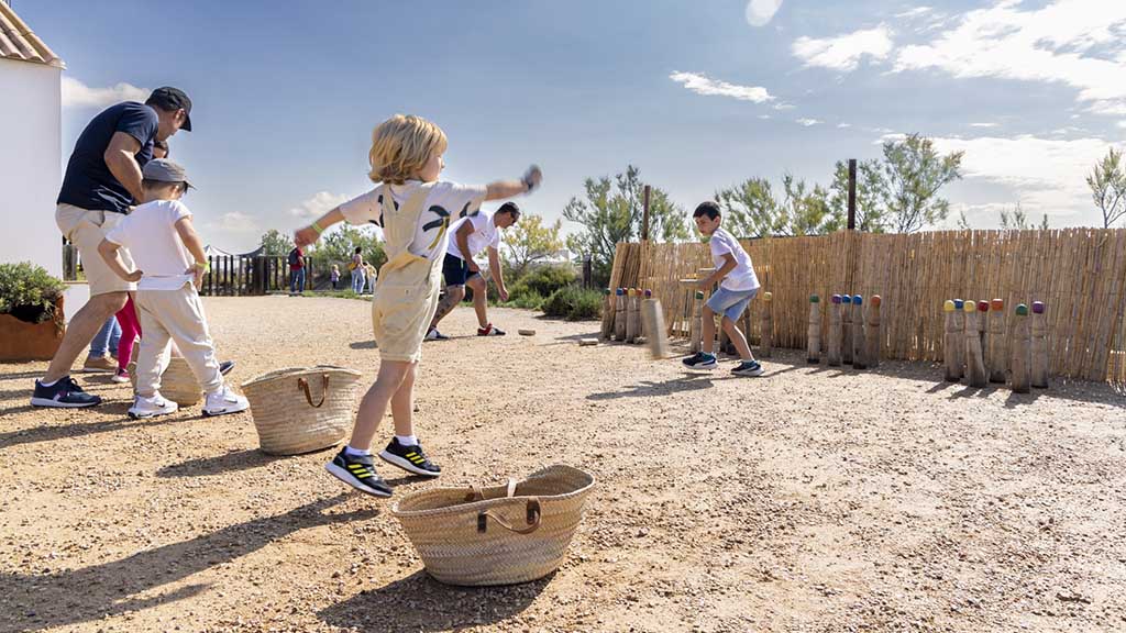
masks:
<instances>
[{"instance_id":1,"label":"white t-shirt on the child wearing a grey cap","mask_svg":"<svg viewBox=\"0 0 1126 633\"><path fill-rule=\"evenodd\" d=\"M178 291L191 282L186 270L195 258L176 232L176 223L191 217L180 200L153 200L133 209L106 239L129 249L133 262L143 273L138 291Z\"/></svg>"}]
</instances>

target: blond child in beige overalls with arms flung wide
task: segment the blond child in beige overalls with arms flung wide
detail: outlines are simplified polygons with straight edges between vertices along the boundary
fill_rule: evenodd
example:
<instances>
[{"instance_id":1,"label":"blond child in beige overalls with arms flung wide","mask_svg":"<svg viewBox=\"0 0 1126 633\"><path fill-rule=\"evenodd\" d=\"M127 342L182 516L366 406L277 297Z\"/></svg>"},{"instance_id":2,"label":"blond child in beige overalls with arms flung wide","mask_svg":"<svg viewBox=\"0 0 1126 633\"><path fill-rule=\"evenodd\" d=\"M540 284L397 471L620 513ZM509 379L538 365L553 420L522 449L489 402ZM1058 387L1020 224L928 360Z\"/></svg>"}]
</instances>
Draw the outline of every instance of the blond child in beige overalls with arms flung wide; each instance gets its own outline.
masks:
<instances>
[{"instance_id":1,"label":"blond child in beige overalls with arms flung wide","mask_svg":"<svg viewBox=\"0 0 1126 633\"><path fill-rule=\"evenodd\" d=\"M375 472L372 442L387 407L395 434L379 458L410 473L438 476L441 469L422 451L411 419L422 337L438 305L441 262L450 219L480 208L483 200L529 193L542 175L529 168L521 180L488 186L439 182L446 134L434 123L395 115L372 132L368 161L375 189L324 214L297 231L297 244L311 244L329 226L374 222L383 228L387 262L379 269L372 301L372 328L379 341L379 372L360 401L356 425L325 469L356 490L390 497L391 487Z\"/></svg>"}]
</instances>

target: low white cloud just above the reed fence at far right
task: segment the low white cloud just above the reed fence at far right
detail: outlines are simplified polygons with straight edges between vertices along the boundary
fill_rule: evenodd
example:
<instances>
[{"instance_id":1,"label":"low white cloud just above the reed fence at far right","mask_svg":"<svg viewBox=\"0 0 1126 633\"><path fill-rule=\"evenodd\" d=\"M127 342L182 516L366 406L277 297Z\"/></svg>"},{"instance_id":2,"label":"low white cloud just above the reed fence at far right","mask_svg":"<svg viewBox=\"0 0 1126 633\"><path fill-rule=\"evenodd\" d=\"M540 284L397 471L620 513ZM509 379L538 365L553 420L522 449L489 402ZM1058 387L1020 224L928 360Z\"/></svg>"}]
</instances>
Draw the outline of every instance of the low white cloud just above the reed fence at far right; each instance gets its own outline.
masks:
<instances>
[{"instance_id":1,"label":"low white cloud just above the reed fence at far right","mask_svg":"<svg viewBox=\"0 0 1126 633\"><path fill-rule=\"evenodd\" d=\"M881 142L902 137L902 134L888 134ZM1031 135L932 140L941 153L965 152L962 171L967 181L1000 185L1011 190L1004 199L988 204L1011 206L1019 199L1025 211L1037 219L1046 212L1049 217L1087 217L1088 223L1093 222L1085 178L1111 143L1092 137L1064 140Z\"/></svg>"}]
</instances>

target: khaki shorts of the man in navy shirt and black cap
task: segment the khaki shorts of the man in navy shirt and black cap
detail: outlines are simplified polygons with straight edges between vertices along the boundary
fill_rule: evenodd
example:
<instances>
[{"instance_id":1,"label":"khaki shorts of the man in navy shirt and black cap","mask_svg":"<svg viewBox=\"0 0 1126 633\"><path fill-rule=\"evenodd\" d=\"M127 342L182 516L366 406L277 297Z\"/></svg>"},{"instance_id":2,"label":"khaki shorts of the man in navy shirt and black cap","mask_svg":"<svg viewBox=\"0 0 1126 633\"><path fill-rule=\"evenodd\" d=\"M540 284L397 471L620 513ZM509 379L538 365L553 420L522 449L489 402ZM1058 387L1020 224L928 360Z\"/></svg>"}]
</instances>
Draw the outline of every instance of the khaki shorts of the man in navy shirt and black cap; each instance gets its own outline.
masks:
<instances>
[{"instance_id":1,"label":"khaki shorts of the man in navy shirt and black cap","mask_svg":"<svg viewBox=\"0 0 1126 633\"><path fill-rule=\"evenodd\" d=\"M82 258L82 270L90 285L90 296L137 289L136 284L122 279L110 270L98 252L98 244L106 233L122 220L125 220L125 214L110 211L89 211L69 204L60 204L55 208L55 224L63 237L78 247L79 257ZM128 249L122 248L117 252L125 262L125 268L133 269Z\"/></svg>"}]
</instances>

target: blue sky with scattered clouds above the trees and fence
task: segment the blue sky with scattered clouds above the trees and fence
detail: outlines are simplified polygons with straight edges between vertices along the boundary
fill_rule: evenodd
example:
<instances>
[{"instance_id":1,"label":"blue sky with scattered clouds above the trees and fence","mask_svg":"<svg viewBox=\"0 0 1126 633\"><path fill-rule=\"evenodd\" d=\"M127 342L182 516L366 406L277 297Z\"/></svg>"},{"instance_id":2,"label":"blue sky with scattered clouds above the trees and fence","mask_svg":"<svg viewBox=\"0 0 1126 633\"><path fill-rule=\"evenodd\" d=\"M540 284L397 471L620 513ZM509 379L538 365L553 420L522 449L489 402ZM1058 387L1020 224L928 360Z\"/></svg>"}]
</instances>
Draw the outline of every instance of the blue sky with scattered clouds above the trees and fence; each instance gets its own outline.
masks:
<instances>
[{"instance_id":1,"label":"blue sky with scattered clouds above the trees and fence","mask_svg":"<svg viewBox=\"0 0 1126 633\"><path fill-rule=\"evenodd\" d=\"M64 160L100 107L161 84L191 96L172 155L230 250L369 188L370 130L396 112L443 126L447 179L539 163L522 206L549 220L627 163L690 209L749 177L828 185L834 161L919 132L966 151L944 193L972 225L1018 200L1093 225L1083 177L1126 145L1126 2L1110 0L14 7L68 65Z\"/></svg>"}]
</instances>

